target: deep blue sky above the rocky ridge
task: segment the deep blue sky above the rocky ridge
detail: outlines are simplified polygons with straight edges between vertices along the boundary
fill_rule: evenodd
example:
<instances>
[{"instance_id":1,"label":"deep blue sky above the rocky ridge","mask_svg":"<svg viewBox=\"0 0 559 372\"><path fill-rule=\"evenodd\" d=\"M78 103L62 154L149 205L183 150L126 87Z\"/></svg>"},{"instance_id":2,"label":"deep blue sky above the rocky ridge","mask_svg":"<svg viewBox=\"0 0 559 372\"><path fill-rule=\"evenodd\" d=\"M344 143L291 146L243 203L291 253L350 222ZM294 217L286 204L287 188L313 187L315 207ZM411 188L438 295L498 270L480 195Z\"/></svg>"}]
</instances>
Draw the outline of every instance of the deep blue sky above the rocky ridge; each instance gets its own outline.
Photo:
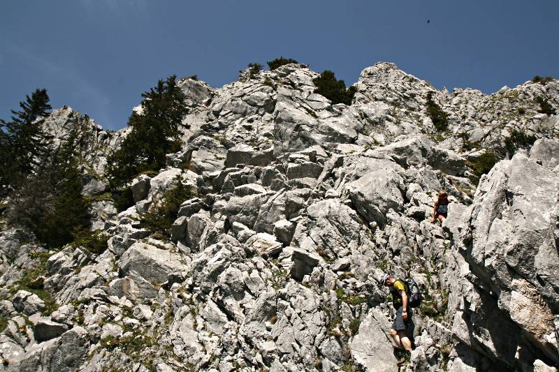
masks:
<instances>
[{"instance_id":1,"label":"deep blue sky above the rocky ridge","mask_svg":"<svg viewBox=\"0 0 559 372\"><path fill-rule=\"evenodd\" d=\"M0 5L0 118L36 88L122 128L158 79L214 87L280 55L346 84L377 61L486 93L559 77L555 0L22 0ZM430 23L427 23L430 20Z\"/></svg>"}]
</instances>

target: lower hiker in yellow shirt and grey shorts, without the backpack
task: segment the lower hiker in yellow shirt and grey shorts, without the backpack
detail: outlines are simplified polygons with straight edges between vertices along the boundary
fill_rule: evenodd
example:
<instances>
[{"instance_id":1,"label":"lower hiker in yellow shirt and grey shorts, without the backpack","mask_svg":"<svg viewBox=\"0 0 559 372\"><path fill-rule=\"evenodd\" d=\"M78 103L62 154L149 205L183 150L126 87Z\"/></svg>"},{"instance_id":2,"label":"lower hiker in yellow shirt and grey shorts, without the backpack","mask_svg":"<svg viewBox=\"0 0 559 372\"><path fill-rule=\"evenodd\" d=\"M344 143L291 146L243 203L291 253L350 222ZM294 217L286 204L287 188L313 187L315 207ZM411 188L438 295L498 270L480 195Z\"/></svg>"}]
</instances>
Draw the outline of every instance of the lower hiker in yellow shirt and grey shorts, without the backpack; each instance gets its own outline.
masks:
<instances>
[{"instance_id":1,"label":"lower hiker in yellow shirt and grey shorts, without the backpack","mask_svg":"<svg viewBox=\"0 0 559 372\"><path fill-rule=\"evenodd\" d=\"M407 284L400 279L394 278L391 274L384 274L379 281L379 285L390 287L392 304L396 309L396 316L390 329L390 336L392 336L398 348L411 352L412 341L409 339L408 334L410 331L413 332L414 324L412 322L412 308L408 302Z\"/></svg>"}]
</instances>

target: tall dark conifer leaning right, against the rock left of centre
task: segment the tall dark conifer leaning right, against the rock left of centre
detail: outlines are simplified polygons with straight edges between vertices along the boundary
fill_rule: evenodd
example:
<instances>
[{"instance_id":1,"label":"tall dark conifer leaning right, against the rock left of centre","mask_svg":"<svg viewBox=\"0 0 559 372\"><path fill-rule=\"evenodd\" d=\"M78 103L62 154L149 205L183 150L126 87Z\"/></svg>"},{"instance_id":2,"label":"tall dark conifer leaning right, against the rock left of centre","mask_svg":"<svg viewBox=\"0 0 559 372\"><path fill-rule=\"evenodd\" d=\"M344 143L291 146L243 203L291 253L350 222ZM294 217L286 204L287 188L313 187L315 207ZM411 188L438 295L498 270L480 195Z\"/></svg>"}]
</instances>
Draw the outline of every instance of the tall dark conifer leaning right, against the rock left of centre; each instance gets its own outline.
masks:
<instances>
[{"instance_id":1,"label":"tall dark conifer leaning right, against the rock left of centre","mask_svg":"<svg viewBox=\"0 0 559 372\"><path fill-rule=\"evenodd\" d=\"M124 186L145 170L164 168L166 154L180 149L179 128L187 106L175 79L173 75L166 81L159 80L157 87L142 94L143 114L131 114L128 126L132 131L108 158L112 188Z\"/></svg>"}]
</instances>

